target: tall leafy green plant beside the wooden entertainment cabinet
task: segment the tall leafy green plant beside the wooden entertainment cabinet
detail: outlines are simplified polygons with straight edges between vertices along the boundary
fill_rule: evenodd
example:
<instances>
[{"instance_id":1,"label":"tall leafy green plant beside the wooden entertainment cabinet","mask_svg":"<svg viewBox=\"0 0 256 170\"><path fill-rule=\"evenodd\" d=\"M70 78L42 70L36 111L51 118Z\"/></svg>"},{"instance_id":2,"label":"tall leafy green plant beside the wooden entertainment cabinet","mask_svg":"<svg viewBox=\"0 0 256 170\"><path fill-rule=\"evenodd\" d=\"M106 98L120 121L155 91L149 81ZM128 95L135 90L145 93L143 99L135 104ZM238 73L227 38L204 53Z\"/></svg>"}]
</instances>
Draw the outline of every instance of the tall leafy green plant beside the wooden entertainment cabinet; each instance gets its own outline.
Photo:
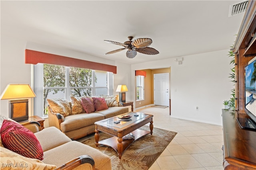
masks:
<instances>
[{"instance_id":1,"label":"tall leafy green plant beside the wooden entertainment cabinet","mask_svg":"<svg viewBox=\"0 0 256 170\"><path fill-rule=\"evenodd\" d=\"M234 45L231 48L233 47ZM229 78L231 78L231 82L235 83L235 54L233 53L232 50L228 52L228 57L232 57L230 64L234 65L234 67L230 69L231 73L229 74L230 75ZM234 110L235 109L235 89L233 88L231 92L232 92L231 93L232 97L230 97L230 100L224 100L223 104L227 105L228 109Z\"/></svg>"}]
</instances>

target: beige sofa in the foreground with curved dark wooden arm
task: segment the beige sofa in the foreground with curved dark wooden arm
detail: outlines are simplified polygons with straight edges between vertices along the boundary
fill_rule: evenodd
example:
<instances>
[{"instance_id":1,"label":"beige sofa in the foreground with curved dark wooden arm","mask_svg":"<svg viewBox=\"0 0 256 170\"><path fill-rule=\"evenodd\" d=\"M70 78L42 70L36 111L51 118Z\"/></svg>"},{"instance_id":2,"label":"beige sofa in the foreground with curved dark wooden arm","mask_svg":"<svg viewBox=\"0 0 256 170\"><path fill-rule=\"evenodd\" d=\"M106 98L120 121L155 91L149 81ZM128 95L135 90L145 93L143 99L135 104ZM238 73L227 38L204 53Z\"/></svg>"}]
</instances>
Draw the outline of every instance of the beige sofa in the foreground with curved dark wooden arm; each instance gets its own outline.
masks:
<instances>
[{"instance_id":1,"label":"beige sofa in the foreground with curved dark wooden arm","mask_svg":"<svg viewBox=\"0 0 256 170\"><path fill-rule=\"evenodd\" d=\"M26 127L32 131L40 130L40 125L37 125L38 128ZM111 170L111 160L107 155L78 141L72 141L56 127L48 127L34 135L42 146L43 160L12 152L4 148L0 140L1 167L19 170Z\"/></svg>"}]
</instances>

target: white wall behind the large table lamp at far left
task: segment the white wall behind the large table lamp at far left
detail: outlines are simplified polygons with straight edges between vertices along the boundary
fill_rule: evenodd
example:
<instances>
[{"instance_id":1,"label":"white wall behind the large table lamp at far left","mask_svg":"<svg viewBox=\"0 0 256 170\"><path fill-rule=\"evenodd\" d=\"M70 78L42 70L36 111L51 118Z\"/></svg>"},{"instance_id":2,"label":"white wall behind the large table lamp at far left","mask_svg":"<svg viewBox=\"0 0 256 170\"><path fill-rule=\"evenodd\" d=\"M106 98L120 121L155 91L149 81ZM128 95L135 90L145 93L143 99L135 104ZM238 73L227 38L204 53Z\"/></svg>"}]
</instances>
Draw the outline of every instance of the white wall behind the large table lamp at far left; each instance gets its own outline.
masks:
<instances>
[{"instance_id":1,"label":"white wall behind the large table lamp at far left","mask_svg":"<svg viewBox=\"0 0 256 170\"><path fill-rule=\"evenodd\" d=\"M0 58L0 93L7 84L30 84L30 64L25 63L26 41L6 37L1 34L1 58ZM30 104L29 100L29 106ZM0 100L0 113L9 117L8 100ZM31 112L29 107L29 112Z\"/></svg>"}]
</instances>

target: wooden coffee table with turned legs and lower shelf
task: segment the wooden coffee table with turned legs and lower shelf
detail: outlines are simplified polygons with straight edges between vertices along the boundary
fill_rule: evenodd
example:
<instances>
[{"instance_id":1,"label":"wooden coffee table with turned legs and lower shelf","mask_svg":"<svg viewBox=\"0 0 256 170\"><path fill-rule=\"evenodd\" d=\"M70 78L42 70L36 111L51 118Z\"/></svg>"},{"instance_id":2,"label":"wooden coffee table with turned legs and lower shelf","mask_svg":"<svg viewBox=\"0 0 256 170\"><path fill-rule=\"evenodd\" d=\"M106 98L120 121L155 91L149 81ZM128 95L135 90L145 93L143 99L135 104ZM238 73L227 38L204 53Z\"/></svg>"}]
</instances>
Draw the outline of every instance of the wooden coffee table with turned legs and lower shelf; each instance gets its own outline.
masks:
<instances>
[{"instance_id":1,"label":"wooden coffee table with turned legs and lower shelf","mask_svg":"<svg viewBox=\"0 0 256 170\"><path fill-rule=\"evenodd\" d=\"M130 115L129 119L120 119L124 115ZM136 116L137 115L137 116ZM116 123L119 122L119 123ZM150 131L140 130L138 128L150 123ZM153 133L153 115L144 113L128 112L115 117L110 117L101 121L97 121L95 124L95 145L98 147L99 144L112 147L118 153L119 159L123 152L137 139L140 137ZM113 137L99 141L99 131L113 135ZM123 140L122 137L132 133L135 139Z\"/></svg>"}]
</instances>

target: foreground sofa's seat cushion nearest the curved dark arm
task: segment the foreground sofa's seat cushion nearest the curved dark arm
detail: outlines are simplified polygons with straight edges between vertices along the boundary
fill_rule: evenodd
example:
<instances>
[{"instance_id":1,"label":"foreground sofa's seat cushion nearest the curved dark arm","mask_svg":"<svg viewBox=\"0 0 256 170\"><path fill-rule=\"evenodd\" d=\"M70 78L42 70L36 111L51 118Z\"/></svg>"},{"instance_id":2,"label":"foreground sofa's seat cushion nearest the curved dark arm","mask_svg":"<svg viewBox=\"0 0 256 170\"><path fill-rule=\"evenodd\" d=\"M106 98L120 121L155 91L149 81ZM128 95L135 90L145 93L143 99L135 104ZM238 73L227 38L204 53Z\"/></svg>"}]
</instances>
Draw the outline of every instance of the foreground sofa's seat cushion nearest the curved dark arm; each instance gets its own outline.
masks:
<instances>
[{"instance_id":1,"label":"foreground sofa's seat cushion nearest the curved dark arm","mask_svg":"<svg viewBox=\"0 0 256 170\"><path fill-rule=\"evenodd\" d=\"M61 166L65 162L84 154L88 154L94 159L95 169L111 170L111 160L107 155L78 141L71 141L44 152L43 162Z\"/></svg>"}]
</instances>

